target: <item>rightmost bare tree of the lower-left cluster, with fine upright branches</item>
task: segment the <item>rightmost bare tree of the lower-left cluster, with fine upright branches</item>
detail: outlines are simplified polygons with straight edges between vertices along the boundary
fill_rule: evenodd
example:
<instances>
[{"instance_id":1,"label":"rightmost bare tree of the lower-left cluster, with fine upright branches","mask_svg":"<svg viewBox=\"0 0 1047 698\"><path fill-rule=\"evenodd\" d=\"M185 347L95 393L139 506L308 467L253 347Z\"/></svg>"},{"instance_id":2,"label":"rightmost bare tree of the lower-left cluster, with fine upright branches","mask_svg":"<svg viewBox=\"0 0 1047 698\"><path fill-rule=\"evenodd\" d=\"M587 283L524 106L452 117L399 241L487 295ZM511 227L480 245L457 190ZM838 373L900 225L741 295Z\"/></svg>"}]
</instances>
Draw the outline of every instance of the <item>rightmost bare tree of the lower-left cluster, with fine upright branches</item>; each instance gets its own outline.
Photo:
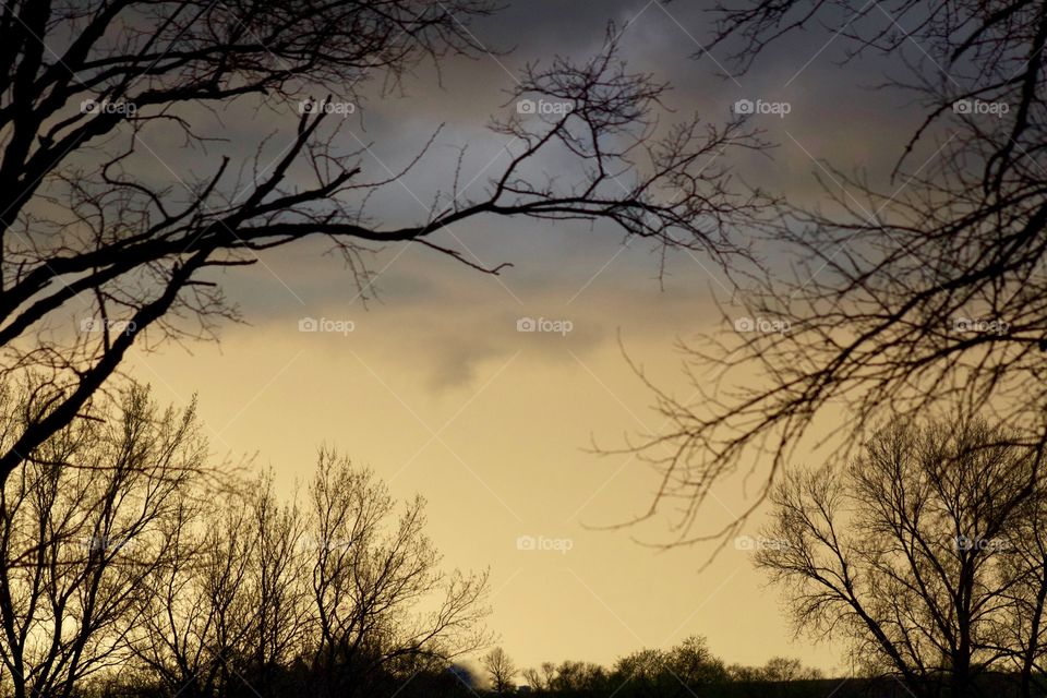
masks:
<instances>
[{"instance_id":1,"label":"rightmost bare tree of the lower-left cluster, with fine upright branches","mask_svg":"<svg viewBox=\"0 0 1047 698\"><path fill-rule=\"evenodd\" d=\"M370 470L321 452L306 535L322 695L366 693L368 679L405 659L449 662L486 642L486 573L441 569L423 507L419 497L397 510Z\"/></svg>"}]
</instances>

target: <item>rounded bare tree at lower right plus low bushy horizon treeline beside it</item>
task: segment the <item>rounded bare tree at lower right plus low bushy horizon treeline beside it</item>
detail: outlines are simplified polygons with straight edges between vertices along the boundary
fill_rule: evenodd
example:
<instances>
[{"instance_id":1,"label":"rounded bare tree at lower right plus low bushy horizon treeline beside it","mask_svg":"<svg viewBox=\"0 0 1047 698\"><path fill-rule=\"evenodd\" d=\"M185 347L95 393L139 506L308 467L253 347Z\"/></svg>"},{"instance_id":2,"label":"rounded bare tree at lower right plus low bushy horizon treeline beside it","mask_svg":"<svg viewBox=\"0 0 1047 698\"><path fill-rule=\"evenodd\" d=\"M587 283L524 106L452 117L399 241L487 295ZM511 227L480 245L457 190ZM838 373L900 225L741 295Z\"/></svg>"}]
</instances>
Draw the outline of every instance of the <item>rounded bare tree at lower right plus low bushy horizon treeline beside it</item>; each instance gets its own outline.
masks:
<instances>
[{"instance_id":1,"label":"rounded bare tree at lower right plus low bushy horizon treeline beside it","mask_svg":"<svg viewBox=\"0 0 1047 698\"><path fill-rule=\"evenodd\" d=\"M754 562L797 631L844 642L862 681L832 686L784 660L729 669L691 638L611 670L528 670L526 684L578 696L1044 696L1045 446L963 411L898 418L851 460L779 479ZM483 665L496 690L513 687L504 652Z\"/></svg>"}]
</instances>

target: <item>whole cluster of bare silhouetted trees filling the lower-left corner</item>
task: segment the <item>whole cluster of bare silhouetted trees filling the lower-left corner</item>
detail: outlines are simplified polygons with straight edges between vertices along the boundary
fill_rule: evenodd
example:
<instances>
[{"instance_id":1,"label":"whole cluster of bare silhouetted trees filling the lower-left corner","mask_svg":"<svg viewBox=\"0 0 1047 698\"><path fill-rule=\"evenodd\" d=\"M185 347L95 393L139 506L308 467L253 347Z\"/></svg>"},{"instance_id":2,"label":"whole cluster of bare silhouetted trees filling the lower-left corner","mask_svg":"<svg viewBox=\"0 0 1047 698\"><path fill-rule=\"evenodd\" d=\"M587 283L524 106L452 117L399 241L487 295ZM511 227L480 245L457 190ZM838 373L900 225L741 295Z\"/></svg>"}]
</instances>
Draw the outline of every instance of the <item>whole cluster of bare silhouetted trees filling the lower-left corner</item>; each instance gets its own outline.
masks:
<instances>
[{"instance_id":1,"label":"whole cluster of bare silhouetted trees filling the lower-left corner","mask_svg":"<svg viewBox=\"0 0 1047 698\"><path fill-rule=\"evenodd\" d=\"M0 390L0 435L28 405ZM421 498L327 449L278 497L208 465L192 408L99 411L0 491L0 695L392 695L486 645L486 574L443 570Z\"/></svg>"}]
</instances>

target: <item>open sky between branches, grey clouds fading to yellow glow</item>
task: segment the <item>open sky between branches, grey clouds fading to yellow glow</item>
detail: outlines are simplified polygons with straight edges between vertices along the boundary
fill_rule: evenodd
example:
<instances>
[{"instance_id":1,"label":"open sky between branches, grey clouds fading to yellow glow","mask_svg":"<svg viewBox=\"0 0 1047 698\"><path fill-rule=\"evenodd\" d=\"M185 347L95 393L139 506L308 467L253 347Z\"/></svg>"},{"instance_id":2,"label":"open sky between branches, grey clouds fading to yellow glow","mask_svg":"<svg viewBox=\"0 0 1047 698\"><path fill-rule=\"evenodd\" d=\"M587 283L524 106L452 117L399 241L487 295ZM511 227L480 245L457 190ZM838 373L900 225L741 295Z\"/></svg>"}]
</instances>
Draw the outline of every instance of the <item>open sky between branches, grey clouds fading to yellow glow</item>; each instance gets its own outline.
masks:
<instances>
[{"instance_id":1,"label":"open sky between branches, grey clouds fading to yellow glow","mask_svg":"<svg viewBox=\"0 0 1047 698\"><path fill-rule=\"evenodd\" d=\"M890 67L841 68L831 34L792 38L746 75L725 76L723 49L702 51L711 17L699 3L510 1L473 29L504 52L448 61L440 80L421 68L392 94L374 89L347 121L338 137L346 149L369 146L361 165L374 179L402 168L444 124L430 154L372 210L389 226L424 219L467 144L461 179L471 182L467 193L479 192L512 147L486 124L513 108L513 74L555 55L592 55L611 21L624 27L629 65L673 83L675 115L666 119L698 111L722 122L738 99L791 105L784 118L760 117L779 147L733 163L751 183L813 198L822 172L816 160L876 174L898 154L884 144L912 122L903 101L867 89ZM264 110L226 124L244 148L268 133L278 142L292 125ZM201 158L201 171L209 161L179 155L177 144L155 146L171 153L176 169L179 157ZM660 282L657 251L623 246L618 232L600 226L478 219L441 242L514 266L493 277L419 245L394 245L370 258L366 296L376 298L364 303L325 243L285 248L227 273L244 324L222 326L218 344L136 353L132 371L161 399L184 404L198 394L215 452L256 454L288 493L326 444L372 467L398 496L424 495L446 565L490 566L490 627L521 665L611 662L700 634L729 662L786 654L839 670L839 647L794 640L775 590L745 551L729 546L699 571L707 547L642 544L672 540L666 519L607 528L646 510L658 484L635 457L591 449L622 447L661 426L623 348L655 384L694 396L677 345L726 329L717 306L726 285L713 265L674 253ZM352 332L299 332L304 317L351 322ZM567 321L571 329L519 333L521 317ZM751 481L724 483L699 525L739 513L756 490ZM749 532L758 527L759 517ZM520 537L564 550L521 550Z\"/></svg>"}]
</instances>

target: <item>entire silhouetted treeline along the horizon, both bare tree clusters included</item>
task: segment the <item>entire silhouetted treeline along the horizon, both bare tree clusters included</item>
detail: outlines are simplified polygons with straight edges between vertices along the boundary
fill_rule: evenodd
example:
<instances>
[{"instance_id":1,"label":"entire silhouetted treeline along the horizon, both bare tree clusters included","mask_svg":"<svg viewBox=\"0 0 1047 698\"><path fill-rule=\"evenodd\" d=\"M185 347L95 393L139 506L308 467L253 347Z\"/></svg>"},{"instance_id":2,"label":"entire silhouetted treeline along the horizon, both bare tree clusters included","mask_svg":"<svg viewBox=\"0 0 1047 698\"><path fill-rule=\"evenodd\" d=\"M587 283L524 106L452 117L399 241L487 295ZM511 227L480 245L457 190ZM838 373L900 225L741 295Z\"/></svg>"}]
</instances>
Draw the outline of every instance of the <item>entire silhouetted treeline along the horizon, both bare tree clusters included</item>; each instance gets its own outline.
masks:
<instances>
[{"instance_id":1,"label":"entire silhouetted treeline along the horizon, both bare tree clusters included","mask_svg":"<svg viewBox=\"0 0 1047 698\"><path fill-rule=\"evenodd\" d=\"M0 438L34 419L29 389L0 387ZM610 666L520 671L494 648L470 669L488 575L443 568L422 498L327 448L278 496L140 386L93 414L0 489L4 698L1045 695L1043 449L983 420L896 421L772 492L754 561L797 629L853 648L863 678L832 679L727 665L700 636Z\"/></svg>"}]
</instances>

